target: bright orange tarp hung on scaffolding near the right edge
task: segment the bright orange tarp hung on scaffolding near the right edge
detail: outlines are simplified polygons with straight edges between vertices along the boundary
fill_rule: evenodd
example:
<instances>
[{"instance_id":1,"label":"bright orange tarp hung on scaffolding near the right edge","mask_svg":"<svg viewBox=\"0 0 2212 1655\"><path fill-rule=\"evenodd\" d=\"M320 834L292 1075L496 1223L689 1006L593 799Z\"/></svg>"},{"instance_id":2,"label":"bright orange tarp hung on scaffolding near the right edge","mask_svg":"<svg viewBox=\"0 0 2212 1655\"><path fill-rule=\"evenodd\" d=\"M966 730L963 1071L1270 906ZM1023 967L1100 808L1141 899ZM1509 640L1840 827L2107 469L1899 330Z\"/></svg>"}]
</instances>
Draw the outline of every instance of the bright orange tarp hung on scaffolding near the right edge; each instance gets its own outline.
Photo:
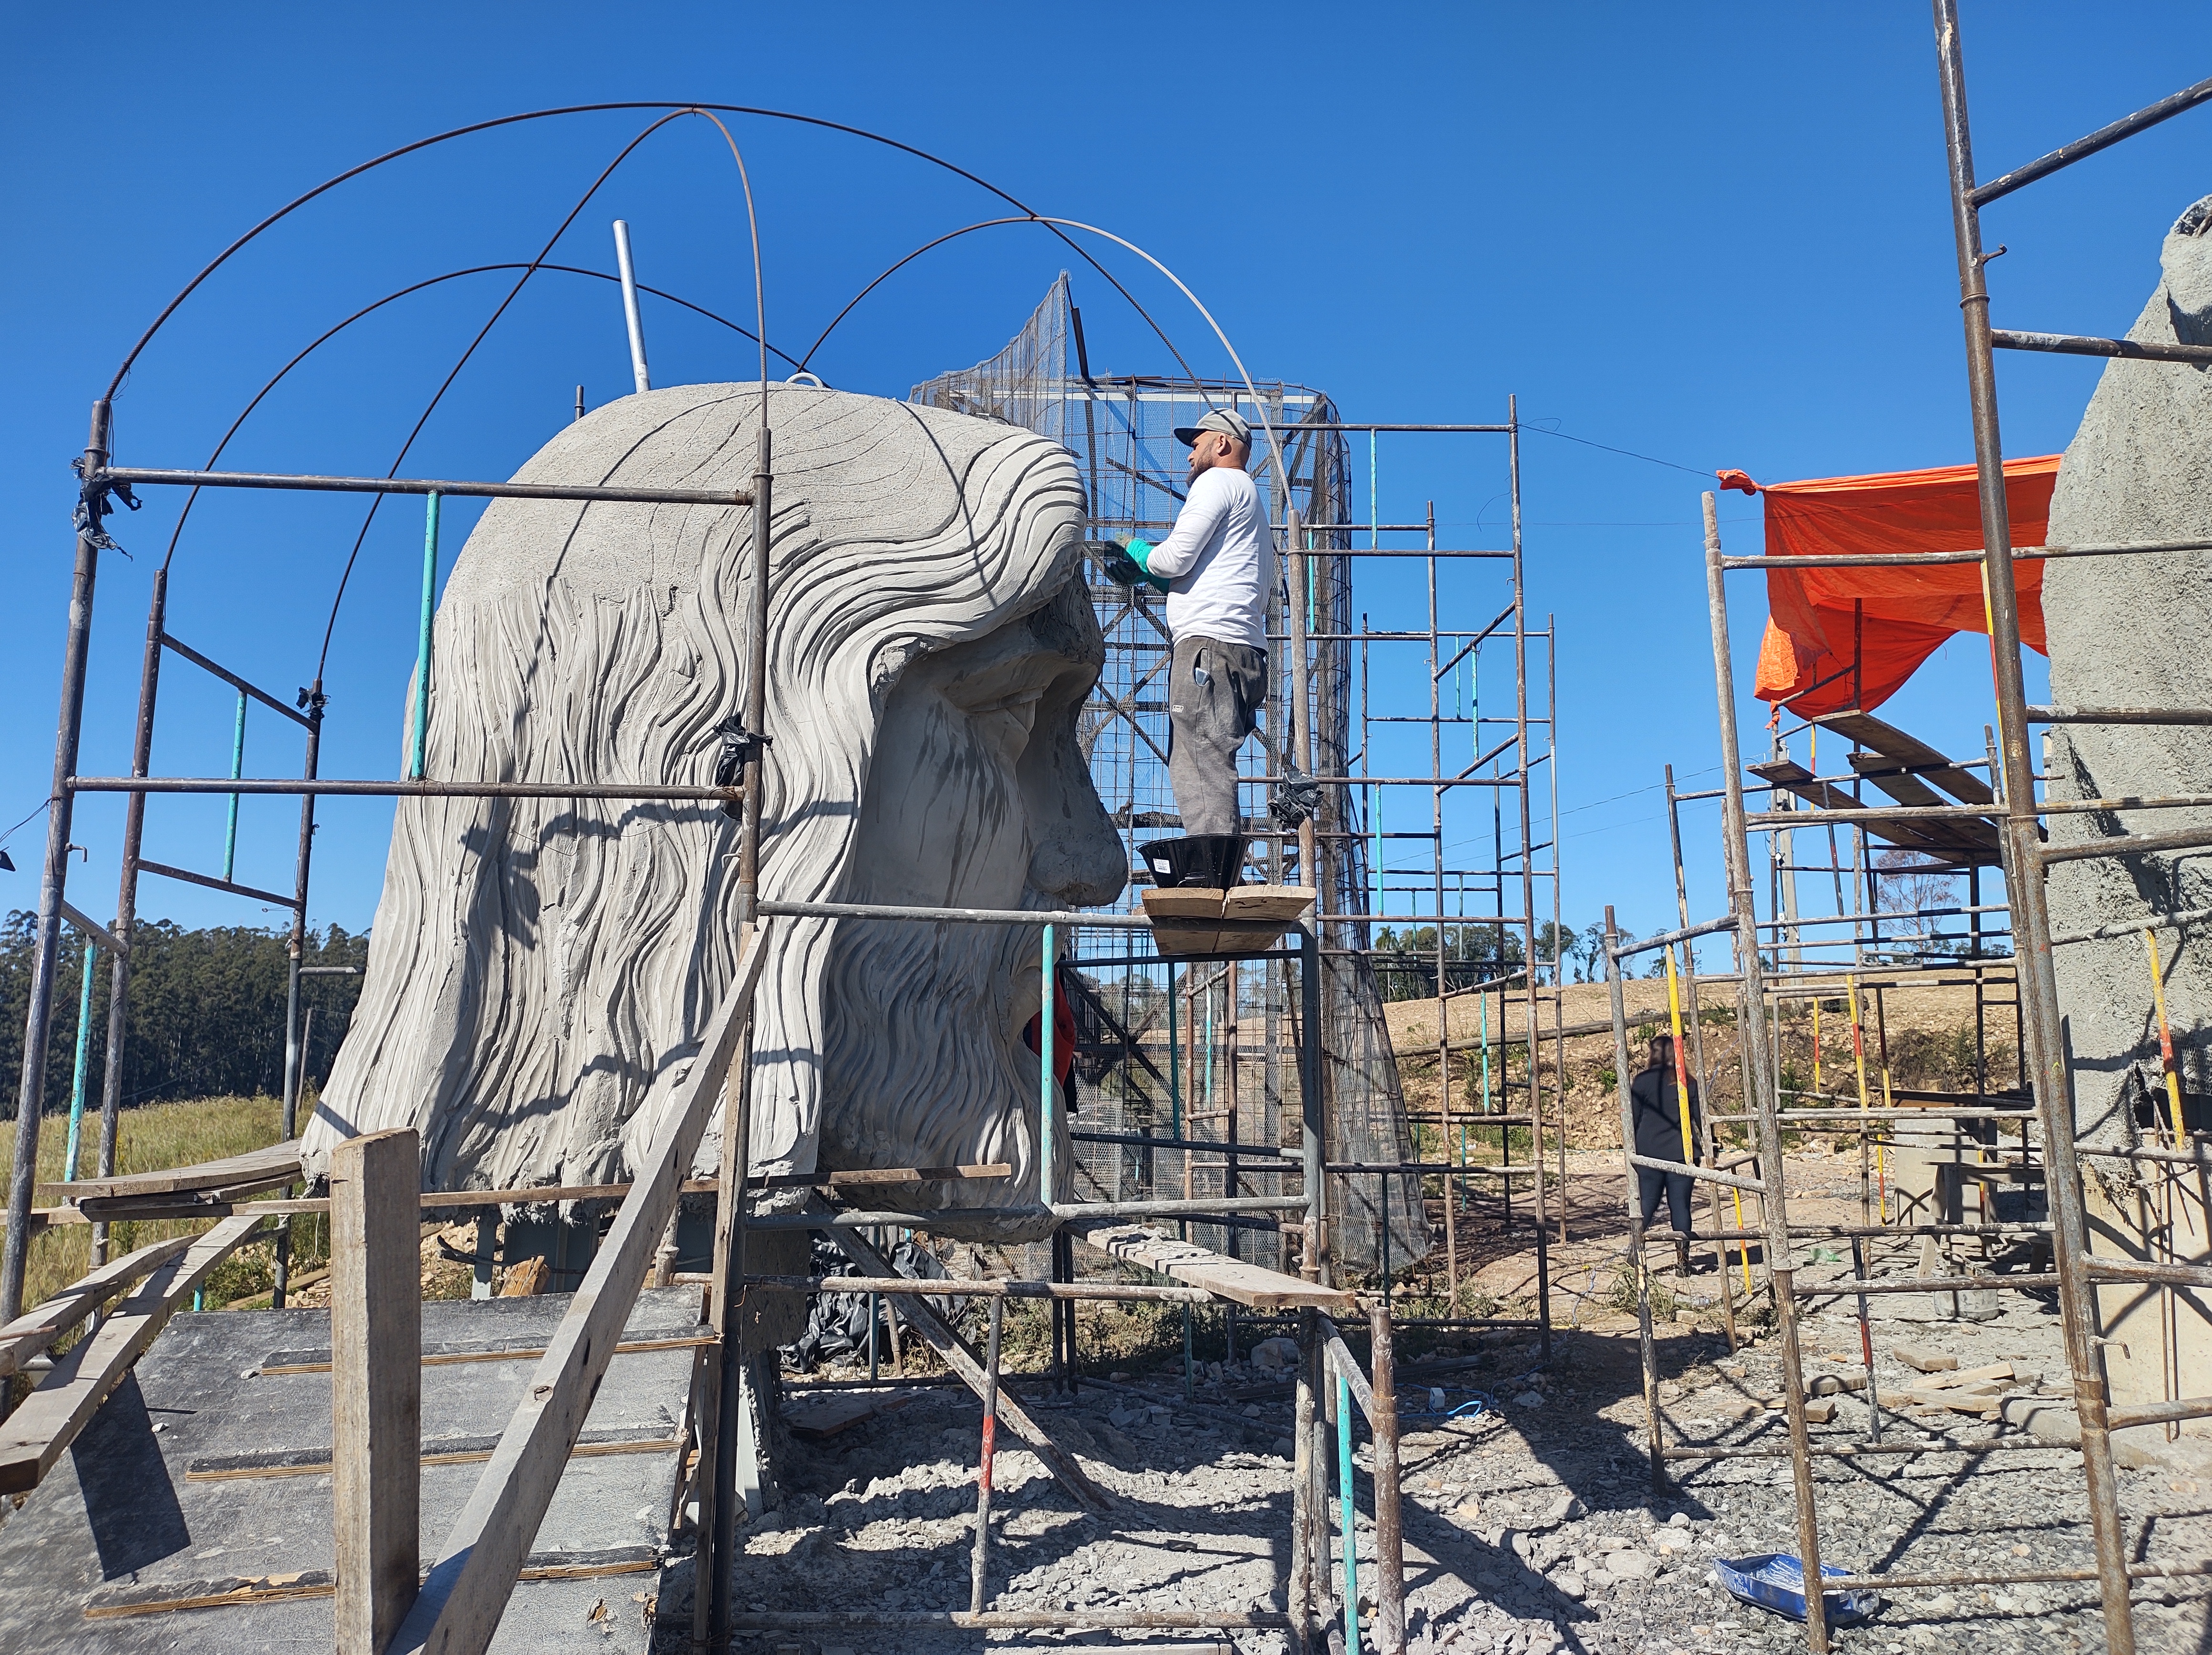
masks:
<instances>
[{"instance_id":1,"label":"bright orange tarp hung on scaffolding near the right edge","mask_svg":"<svg viewBox=\"0 0 2212 1655\"><path fill-rule=\"evenodd\" d=\"M2044 544L2059 456L2004 462L2013 544ZM1863 551L1975 551L1982 507L1971 465L1880 471L1865 478L1754 485L1723 471L1721 485L1767 498L1767 558ZM2044 564L2015 564L2020 642L2044 644ZM1858 706L1871 712L1951 633L1986 633L1980 564L1927 569L1781 569L1767 573L1767 635L1759 646L1761 701L1798 717ZM1854 673L1854 662L1858 670ZM1818 688L1816 688L1818 686Z\"/></svg>"}]
</instances>

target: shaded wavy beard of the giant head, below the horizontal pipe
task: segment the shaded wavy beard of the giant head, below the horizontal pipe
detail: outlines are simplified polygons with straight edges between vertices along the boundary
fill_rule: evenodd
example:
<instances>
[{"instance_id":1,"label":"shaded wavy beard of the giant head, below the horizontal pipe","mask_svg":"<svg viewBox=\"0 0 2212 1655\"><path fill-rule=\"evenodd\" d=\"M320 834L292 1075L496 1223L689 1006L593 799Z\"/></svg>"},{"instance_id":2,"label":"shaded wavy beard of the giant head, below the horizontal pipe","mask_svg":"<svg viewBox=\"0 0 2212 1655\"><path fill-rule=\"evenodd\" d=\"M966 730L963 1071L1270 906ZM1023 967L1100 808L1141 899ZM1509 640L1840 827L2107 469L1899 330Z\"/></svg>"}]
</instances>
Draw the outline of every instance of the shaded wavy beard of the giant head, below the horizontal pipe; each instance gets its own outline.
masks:
<instances>
[{"instance_id":1,"label":"shaded wavy beard of the giant head, below the horizontal pipe","mask_svg":"<svg viewBox=\"0 0 2212 1655\"><path fill-rule=\"evenodd\" d=\"M865 1204L900 1212L1013 1208L973 1230L1042 1235L1037 1060L1020 1038L1037 1009L1037 934L1029 929L838 920L823 980L818 1164L1004 1162L1013 1168L1004 1179L876 1186Z\"/></svg>"}]
</instances>

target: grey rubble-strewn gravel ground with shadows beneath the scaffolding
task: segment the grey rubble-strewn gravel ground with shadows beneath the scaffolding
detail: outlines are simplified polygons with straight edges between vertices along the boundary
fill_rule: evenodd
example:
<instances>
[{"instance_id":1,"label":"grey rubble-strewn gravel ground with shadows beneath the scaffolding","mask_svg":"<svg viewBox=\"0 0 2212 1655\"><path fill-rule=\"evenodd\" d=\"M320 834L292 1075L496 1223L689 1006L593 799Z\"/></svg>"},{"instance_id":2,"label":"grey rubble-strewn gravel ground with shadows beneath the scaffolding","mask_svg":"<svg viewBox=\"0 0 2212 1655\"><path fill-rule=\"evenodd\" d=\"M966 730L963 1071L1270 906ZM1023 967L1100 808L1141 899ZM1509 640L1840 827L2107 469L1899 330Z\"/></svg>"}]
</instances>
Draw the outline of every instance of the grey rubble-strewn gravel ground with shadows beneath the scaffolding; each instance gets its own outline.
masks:
<instances>
[{"instance_id":1,"label":"grey rubble-strewn gravel ground with shadows beneath the scaffolding","mask_svg":"<svg viewBox=\"0 0 2212 1655\"><path fill-rule=\"evenodd\" d=\"M1792 1168L1792 1184L1798 1182ZM1807 1168L1807 1179L1834 1173ZM1856 1168L1836 1197L1856 1208ZM1579 1179L1577 1179L1579 1182ZM1849 1184L1849 1190L1845 1190ZM1617 1175L1615 1175L1617 1190ZM1812 1193L1812 1190L1807 1190ZM1617 1195L1613 1197L1617 1199ZM1796 1208L1796 1201L1792 1201ZM1836 1217L1845 1217L1838 1212ZM1590 1232L1590 1246L1604 1237ZM1553 1252L1555 1281L1575 1252ZM1590 1255L1601 1257L1599 1252ZM1876 1272L1911 1272L1909 1243L1891 1243ZM1803 1279L1840 1272L1814 1263ZM1668 1281L1661 1277L1661 1281ZM1776 1341L1730 1352L1690 1305L1712 1301L1710 1272L1670 1283L1683 1321L1659 1325L1661 1405L1672 1443L1778 1445ZM1851 1301L1814 1305L1805 1321L1807 1372L1858 1374ZM1938 1321L1924 1294L1874 1297L1876 1387L1898 1394L1918 1378L1887 1352L1938 1345L1962 1367L2008 1361L2066 1389L2057 1314L2048 1299L2002 1294L1993 1321ZM1677 1463L1677 1485L1652 1496L1644 1451L1644 1398L1632 1321L1557 1301L1562 1332L1548 1365L1528 1334L1493 1334L1471 1365L1422 1383L1453 1385L1444 1401L1480 1387L1493 1398L1478 1420L1405 1420L1402 1487L1407 1609L1416 1655L1544 1655L1544 1651L1790 1651L1803 1628L1728 1597L1714 1558L1796 1551L1785 1458ZM1699 1312L1710 1319L1710 1312ZM1836 1361L1829 1361L1834 1356ZM1407 1372L1411 1381L1413 1370ZM1290 1555L1287 1387L1250 1365L1208 1370L1199 1407L1186 1407L1177 1372L1068 1401L1020 1383L1040 1420L1077 1451L1124 1502L1113 1518L1084 1516L1026 1451L1002 1449L993 1518L993 1606L1203 1611L1283 1606ZM907 1392L898 1412L823 1443L794 1438L781 1511L748 1531L739 1602L759 1609L964 1609L973 1544L973 1465L980 1412L964 1392ZM1865 1392L1838 1396L1816 1440L1867 1432ZM1924 1438L1920 1418L1887 1416L1885 1440ZM2017 1425L1944 1416L1949 1440L2004 1436L2037 1443ZM2135 1558L2212 1558L2212 1438L2166 1447L2157 1432L2126 1454L2121 1505ZM1004 1443L1004 1438L1002 1438ZM1367 1447L1360 1467L1360 1558L1371 1558ZM1823 1555L1869 1571L2090 1566L2079 1456L2066 1447L1936 1451L1816 1460ZM677 1595L670 1580L670 1597ZM688 1593L684 1593L688 1595ZM1363 1575L1365 1595L1365 1575ZM677 1609L675 1602L664 1609ZM2137 1589L2137 1646L2146 1655L2212 1651L2212 1582L2146 1582ZM664 1622L666 1626L668 1622ZM776 1635L757 1651L900 1648L951 1655L982 1648L1082 1648L1177 1642L1188 1633L1046 1635L852 1631ZM1245 1655L1274 1655L1279 1633L1234 1633ZM1843 1628L1849 1655L1960 1651L2011 1655L2104 1651L2093 1582L1902 1589L1865 1626Z\"/></svg>"}]
</instances>

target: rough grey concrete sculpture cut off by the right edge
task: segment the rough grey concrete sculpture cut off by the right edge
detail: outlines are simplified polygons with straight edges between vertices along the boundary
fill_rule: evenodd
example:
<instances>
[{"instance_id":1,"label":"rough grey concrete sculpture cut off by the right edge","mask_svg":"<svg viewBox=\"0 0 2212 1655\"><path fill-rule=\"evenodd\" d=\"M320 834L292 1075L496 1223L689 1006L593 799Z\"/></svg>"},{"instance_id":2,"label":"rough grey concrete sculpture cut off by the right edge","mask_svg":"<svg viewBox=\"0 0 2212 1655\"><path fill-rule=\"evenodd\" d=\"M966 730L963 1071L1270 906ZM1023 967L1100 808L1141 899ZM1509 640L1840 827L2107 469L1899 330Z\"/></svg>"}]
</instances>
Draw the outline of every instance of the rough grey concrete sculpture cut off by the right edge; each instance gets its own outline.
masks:
<instances>
[{"instance_id":1,"label":"rough grey concrete sculpture cut off by the right edge","mask_svg":"<svg viewBox=\"0 0 2212 1655\"><path fill-rule=\"evenodd\" d=\"M2128 339L2212 345L2212 197L2166 232L2159 285ZM2212 542L2212 369L2128 358L2106 365L2059 465L2051 540ZM2057 704L2212 706L2201 642L2212 626L2203 551L2053 560L2044 571L2044 626ZM2053 799L2212 794L2212 730L2203 726L2062 724L2044 737L2042 757ZM2174 830L2212 834L2212 810L2059 814L2051 819L2051 843ZM2130 923L2212 907L2212 852L2055 863L2046 889L2053 936L2128 927L2053 947L2077 1131L2108 1151L2157 1142L2166 1113L2159 1027L2148 949ZM2212 1091L2212 938L2201 925L2161 927L2157 943L2181 1084L2201 1095ZM2203 1201L2174 1201L2172 1186L2159 1182L2177 1168L2108 1155L2088 1155L2081 1168L2097 1252L2212 1257ZM2097 1301L2115 1403L2163 1401L2172 1372L2212 1363L2212 1316L2190 1294L2101 1286Z\"/></svg>"}]
</instances>

